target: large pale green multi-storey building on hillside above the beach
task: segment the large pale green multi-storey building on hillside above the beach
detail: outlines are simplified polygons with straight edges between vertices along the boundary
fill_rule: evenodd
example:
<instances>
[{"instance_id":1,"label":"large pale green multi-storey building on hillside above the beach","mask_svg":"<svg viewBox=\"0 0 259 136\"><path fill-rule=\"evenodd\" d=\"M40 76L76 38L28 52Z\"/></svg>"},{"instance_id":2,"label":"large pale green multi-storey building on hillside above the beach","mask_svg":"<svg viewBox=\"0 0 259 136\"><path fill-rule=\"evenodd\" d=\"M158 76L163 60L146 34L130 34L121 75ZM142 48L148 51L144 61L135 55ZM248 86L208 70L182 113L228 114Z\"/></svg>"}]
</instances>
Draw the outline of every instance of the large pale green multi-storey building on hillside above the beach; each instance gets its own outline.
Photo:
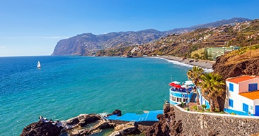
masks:
<instances>
[{"instance_id":1,"label":"large pale green multi-storey building on hillside above the beach","mask_svg":"<svg viewBox=\"0 0 259 136\"><path fill-rule=\"evenodd\" d=\"M240 49L240 47L217 47L217 48L206 48L207 56L209 59L216 60L218 56L227 54L236 49Z\"/></svg>"}]
</instances>

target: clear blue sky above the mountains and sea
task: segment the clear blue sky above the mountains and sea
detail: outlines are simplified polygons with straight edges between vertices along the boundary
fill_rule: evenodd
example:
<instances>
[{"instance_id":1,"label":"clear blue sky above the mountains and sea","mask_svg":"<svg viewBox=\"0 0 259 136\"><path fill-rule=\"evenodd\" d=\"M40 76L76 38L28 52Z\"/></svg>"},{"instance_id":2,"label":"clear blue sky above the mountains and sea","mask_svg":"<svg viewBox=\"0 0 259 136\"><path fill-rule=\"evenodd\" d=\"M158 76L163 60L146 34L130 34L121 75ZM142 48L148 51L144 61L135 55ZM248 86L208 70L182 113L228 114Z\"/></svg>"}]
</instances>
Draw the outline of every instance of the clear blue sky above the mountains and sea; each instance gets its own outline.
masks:
<instances>
[{"instance_id":1,"label":"clear blue sky above the mountains and sea","mask_svg":"<svg viewBox=\"0 0 259 136\"><path fill-rule=\"evenodd\" d=\"M159 31L258 19L258 0L0 0L0 56L48 56L82 33Z\"/></svg>"}]
</instances>

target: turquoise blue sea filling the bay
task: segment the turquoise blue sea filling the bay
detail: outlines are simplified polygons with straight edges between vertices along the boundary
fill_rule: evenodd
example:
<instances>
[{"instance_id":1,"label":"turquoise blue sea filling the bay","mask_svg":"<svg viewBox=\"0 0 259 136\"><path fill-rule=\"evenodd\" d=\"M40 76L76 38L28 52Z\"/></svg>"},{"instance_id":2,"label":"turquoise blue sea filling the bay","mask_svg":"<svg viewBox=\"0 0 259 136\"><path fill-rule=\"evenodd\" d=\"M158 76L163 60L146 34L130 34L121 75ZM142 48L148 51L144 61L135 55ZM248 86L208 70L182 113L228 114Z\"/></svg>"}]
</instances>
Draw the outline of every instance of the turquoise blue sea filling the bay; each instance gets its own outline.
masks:
<instances>
[{"instance_id":1,"label":"turquoise blue sea filling the bay","mask_svg":"<svg viewBox=\"0 0 259 136\"><path fill-rule=\"evenodd\" d=\"M39 116L161 110L171 75L183 82L189 69L159 58L0 57L0 135L20 135Z\"/></svg>"}]
</instances>

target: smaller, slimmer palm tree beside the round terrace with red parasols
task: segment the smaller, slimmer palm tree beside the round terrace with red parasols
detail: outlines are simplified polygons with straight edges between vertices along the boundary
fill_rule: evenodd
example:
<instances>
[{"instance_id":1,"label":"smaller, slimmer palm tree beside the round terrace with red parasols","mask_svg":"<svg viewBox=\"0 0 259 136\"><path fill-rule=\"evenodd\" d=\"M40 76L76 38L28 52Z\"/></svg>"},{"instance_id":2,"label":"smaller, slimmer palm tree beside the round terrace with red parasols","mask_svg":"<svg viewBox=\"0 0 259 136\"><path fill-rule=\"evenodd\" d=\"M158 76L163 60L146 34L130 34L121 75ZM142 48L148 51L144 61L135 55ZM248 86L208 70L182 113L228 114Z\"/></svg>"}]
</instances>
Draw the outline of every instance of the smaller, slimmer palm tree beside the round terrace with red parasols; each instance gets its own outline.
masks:
<instances>
[{"instance_id":1,"label":"smaller, slimmer palm tree beside the round terrace with red parasols","mask_svg":"<svg viewBox=\"0 0 259 136\"><path fill-rule=\"evenodd\" d=\"M203 71L204 70L202 68L194 66L192 67L192 69L188 70L187 72L188 79L192 80L192 82L196 86L196 92L197 92L197 85L199 84L200 76L202 75ZM198 96L199 96L199 92L197 92L197 97L195 100L197 101L197 104L200 105Z\"/></svg>"}]
</instances>

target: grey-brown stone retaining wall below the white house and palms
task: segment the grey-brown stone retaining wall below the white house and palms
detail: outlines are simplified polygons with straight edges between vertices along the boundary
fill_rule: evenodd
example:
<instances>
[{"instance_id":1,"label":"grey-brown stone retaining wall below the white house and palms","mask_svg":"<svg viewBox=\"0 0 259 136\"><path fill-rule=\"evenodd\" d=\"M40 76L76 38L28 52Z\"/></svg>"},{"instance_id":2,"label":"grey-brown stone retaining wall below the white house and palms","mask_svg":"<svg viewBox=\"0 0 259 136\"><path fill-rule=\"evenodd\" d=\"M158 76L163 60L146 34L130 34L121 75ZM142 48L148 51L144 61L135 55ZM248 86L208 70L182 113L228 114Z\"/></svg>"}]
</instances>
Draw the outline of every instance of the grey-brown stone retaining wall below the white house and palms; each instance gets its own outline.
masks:
<instances>
[{"instance_id":1,"label":"grey-brown stone retaining wall below the white house and palms","mask_svg":"<svg viewBox=\"0 0 259 136\"><path fill-rule=\"evenodd\" d=\"M173 106L173 105L171 105ZM175 119L182 120L185 135L252 135L259 132L259 118L220 113L200 113L175 109Z\"/></svg>"}]
</instances>

